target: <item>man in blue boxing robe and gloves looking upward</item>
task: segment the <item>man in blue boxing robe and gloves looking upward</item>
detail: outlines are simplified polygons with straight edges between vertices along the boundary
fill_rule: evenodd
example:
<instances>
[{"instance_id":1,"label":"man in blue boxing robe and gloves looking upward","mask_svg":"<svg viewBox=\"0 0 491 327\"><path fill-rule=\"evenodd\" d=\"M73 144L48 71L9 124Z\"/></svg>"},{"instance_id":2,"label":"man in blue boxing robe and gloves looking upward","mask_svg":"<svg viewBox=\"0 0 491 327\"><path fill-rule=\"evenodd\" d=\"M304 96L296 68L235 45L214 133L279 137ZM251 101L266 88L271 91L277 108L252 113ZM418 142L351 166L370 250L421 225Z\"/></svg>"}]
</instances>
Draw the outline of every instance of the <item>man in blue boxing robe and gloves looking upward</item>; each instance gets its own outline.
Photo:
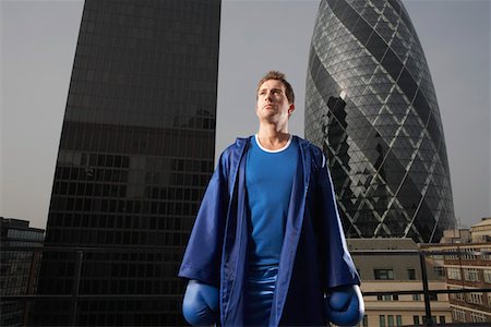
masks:
<instances>
[{"instance_id":1,"label":"man in blue boxing robe and gloves looking upward","mask_svg":"<svg viewBox=\"0 0 491 327\"><path fill-rule=\"evenodd\" d=\"M288 133L295 111L280 72L259 83L259 132L220 156L179 276L192 325L355 325L359 277L322 152Z\"/></svg>"}]
</instances>

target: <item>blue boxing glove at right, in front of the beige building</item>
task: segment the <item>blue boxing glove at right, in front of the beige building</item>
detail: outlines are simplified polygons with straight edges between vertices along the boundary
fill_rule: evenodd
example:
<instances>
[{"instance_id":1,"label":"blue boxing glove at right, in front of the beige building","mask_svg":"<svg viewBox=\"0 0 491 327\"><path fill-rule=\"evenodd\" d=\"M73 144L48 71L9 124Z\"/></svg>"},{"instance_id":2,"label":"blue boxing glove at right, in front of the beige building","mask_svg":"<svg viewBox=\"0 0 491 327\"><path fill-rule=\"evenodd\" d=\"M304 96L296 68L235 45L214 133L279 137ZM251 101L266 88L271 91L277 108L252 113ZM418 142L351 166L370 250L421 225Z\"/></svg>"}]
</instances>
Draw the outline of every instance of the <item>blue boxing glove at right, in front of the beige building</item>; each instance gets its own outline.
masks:
<instances>
[{"instance_id":1,"label":"blue boxing glove at right, in front of the beige building","mask_svg":"<svg viewBox=\"0 0 491 327\"><path fill-rule=\"evenodd\" d=\"M338 326L354 326L364 315L364 302L360 287L343 286L332 289L325 299L327 319Z\"/></svg>"}]
</instances>

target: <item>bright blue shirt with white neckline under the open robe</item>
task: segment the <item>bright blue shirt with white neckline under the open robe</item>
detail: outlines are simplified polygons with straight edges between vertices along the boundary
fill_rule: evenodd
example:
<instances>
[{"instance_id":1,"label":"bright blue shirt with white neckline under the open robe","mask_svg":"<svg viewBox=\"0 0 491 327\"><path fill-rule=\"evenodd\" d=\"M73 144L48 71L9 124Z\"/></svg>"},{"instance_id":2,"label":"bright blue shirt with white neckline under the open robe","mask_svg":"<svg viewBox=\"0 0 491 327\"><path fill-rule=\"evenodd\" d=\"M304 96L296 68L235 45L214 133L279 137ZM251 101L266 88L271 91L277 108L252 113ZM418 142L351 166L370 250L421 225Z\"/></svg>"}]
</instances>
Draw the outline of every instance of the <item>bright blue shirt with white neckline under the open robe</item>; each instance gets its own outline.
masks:
<instances>
[{"instance_id":1,"label":"bright blue shirt with white neckline under the open robe","mask_svg":"<svg viewBox=\"0 0 491 327\"><path fill-rule=\"evenodd\" d=\"M250 264L279 263L298 152L298 143L291 136L277 150L263 148L258 135L251 140L246 161Z\"/></svg>"}]
</instances>

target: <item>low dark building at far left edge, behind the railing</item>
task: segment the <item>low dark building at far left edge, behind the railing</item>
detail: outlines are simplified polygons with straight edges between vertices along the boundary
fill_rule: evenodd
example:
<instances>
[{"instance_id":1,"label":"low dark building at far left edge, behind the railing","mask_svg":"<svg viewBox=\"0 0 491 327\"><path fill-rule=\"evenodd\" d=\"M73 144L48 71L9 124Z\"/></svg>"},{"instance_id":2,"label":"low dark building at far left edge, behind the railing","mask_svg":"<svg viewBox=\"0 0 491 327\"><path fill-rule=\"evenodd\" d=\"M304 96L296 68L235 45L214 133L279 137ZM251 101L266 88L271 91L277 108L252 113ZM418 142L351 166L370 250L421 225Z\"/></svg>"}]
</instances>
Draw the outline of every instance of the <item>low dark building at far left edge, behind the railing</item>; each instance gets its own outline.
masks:
<instances>
[{"instance_id":1,"label":"low dark building at far left edge, behind the railing","mask_svg":"<svg viewBox=\"0 0 491 327\"><path fill-rule=\"evenodd\" d=\"M29 227L27 220L0 217L0 295L34 294L39 269L39 253L11 250L13 246L43 246L45 231ZM25 326L29 303L1 301L0 326Z\"/></svg>"}]
</instances>

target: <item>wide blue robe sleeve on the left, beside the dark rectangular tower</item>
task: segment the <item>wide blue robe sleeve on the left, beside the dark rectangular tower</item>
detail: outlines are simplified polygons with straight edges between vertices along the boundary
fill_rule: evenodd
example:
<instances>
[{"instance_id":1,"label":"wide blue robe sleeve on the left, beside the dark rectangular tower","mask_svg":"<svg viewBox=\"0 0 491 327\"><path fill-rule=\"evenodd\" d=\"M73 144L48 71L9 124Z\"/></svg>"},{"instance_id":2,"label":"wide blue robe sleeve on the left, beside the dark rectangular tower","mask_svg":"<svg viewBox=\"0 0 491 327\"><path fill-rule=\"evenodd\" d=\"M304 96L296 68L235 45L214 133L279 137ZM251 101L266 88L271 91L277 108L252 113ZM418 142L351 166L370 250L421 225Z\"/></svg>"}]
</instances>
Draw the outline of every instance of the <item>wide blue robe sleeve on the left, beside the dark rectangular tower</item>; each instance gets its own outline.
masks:
<instances>
[{"instance_id":1,"label":"wide blue robe sleeve on the left, beside the dark rectangular tower","mask_svg":"<svg viewBox=\"0 0 491 327\"><path fill-rule=\"evenodd\" d=\"M227 162L221 154L205 195L179 269L179 277L219 287L220 259L228 204Z\"/></svg>"}]
</instances>

